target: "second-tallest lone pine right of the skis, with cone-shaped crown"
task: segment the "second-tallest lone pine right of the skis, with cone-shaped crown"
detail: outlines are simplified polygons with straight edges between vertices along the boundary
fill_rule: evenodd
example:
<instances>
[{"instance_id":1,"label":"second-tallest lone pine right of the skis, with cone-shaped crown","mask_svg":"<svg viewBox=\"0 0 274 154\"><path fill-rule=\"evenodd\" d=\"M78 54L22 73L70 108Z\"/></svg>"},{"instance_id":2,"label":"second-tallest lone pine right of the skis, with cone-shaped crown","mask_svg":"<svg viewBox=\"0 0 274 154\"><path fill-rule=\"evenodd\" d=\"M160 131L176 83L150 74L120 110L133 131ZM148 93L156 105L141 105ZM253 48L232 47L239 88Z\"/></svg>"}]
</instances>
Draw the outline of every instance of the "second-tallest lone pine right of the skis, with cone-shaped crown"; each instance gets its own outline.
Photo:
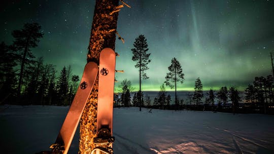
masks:
<instances>
[{"instance_id":1,"label":"second-tallest lone pine right of the skis, with cone-shaped crown","mask_svg":"<svg viewBox=\"0 0 274 154\"><path fill-rule=\"evenodd\" d=\"M172 59L172 64L168 66L169 72L165 76L165 85L170 87L170 89L175 88L175 108L178 109L178 99L177 99L177 84L178 82L183 84L184 82L184 73L181 67L181 64L176 58Z\"/></svg>"}]
</instances>

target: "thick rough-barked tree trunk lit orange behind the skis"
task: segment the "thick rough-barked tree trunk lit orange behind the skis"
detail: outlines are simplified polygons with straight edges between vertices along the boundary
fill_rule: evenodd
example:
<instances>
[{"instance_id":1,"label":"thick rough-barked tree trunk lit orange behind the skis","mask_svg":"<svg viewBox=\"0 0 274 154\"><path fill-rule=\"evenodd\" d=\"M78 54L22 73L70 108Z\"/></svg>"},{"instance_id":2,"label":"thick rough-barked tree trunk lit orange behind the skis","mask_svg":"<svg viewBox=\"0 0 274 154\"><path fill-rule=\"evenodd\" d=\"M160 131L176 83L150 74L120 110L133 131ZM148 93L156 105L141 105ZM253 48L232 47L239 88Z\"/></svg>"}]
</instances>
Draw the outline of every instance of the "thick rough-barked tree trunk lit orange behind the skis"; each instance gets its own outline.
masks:
<instances>
[{"instance_id":1,"label":"thick rough-barked tree trunk lit orange behind the skis","mask_svg":"<svg viewBox=\"0 0 274 154\"><path fill-rule=\"evenodd\" d=\"M99 64L99 54L104 48L115 50L115 37L119 0L96 0L88 47L87 61ZM98 73L99 74L99 73ZM96 137L98 75L80 121L79 151L90 153Z\"/></svg>"}]
</instances>

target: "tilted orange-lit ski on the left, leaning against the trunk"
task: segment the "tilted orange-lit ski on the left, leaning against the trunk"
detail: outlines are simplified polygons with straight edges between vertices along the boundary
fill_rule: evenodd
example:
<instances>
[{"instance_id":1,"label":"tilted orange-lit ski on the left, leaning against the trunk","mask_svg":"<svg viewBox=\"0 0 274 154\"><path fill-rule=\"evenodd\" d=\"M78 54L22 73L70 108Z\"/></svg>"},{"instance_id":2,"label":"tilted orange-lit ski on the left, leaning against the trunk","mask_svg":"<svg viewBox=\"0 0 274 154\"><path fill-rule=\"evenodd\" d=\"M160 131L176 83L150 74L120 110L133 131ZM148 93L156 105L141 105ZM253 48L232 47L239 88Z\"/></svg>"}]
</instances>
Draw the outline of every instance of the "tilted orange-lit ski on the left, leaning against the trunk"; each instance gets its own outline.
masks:
<instances>
[{"instance_id":1,"label":"tilted orange-lit ski on the left, leaning against the trunk","mask_svg":"<svg viewBox=\"0 0 274 154\"><path fill-rule=\"evenodd\" d=\"M70 107L63 125L54 144L50 146L52 153L66 154L72 143L77 126L84 111L86 102L96 80L98 65L88 62L84 68L82 80Z\"/></svg>"}]
</instances>

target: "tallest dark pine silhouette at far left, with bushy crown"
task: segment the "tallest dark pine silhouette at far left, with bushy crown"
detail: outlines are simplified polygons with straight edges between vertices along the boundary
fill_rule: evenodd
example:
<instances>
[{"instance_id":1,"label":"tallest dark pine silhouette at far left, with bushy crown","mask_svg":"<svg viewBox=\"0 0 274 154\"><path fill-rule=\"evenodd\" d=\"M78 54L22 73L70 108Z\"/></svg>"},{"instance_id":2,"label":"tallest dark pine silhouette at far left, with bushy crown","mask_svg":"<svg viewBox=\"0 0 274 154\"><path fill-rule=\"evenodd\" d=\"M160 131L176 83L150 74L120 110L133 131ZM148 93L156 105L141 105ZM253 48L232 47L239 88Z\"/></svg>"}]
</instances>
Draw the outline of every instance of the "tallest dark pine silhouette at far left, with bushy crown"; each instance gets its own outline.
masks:
<instances>
[{"instance_id":1,"label":"tallest dark pine silhouette at far left, with bushy crown","mask_svg":"<svg viewBox=\"0 0 274 154\"><path fill-rule=\"evenodd\" d=\"M21 57L21 68L19 75L19 82L17 88L17 95L20 96L21 85L24 75L24 66L31 61L29 59L34 58L33 54L30 51L30 48L37 47L39 39L43 37L43 33L40 31L41 26L38 23L26 23L24 28L21 30L14 30L12 32L13 37L15 38L14 46L20 52L22 52Z\"/></svg>"}]
</instances>

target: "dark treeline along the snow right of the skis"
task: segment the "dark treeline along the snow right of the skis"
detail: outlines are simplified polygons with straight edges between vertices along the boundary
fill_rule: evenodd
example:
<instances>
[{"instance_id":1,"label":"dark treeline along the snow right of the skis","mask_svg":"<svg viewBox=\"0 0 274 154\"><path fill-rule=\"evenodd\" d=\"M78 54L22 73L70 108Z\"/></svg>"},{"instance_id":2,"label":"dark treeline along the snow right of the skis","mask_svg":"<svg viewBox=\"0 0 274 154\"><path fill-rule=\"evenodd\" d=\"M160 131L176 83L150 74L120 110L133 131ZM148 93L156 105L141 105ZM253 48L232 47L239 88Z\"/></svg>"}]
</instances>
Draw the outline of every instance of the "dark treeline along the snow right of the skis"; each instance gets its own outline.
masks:
<instances>
[{"instance_id":1,"label":"dark treeline along the snow right of the skis","mask_svg":"<svg viewBox=\"0 0 274 154\"><path fill-rule=\"evenodd\" d=\"M234 87L221 87L218 91L210 89L204 94L200 78L194 85L194 92L188 92L185 98L176 97L172 100L167 94L165 85L160 86L158 95L152 101L143 92L131 92L130 81L124 80L119 86L120 94L115 95L115 107L141 106L155 109L173 110L207 110L232 113L267 113L274 114L274 86L273 78L268 75L256 77L255 81L245 89L245 96L241 97Z\"/></svg>"}]
</instances>

